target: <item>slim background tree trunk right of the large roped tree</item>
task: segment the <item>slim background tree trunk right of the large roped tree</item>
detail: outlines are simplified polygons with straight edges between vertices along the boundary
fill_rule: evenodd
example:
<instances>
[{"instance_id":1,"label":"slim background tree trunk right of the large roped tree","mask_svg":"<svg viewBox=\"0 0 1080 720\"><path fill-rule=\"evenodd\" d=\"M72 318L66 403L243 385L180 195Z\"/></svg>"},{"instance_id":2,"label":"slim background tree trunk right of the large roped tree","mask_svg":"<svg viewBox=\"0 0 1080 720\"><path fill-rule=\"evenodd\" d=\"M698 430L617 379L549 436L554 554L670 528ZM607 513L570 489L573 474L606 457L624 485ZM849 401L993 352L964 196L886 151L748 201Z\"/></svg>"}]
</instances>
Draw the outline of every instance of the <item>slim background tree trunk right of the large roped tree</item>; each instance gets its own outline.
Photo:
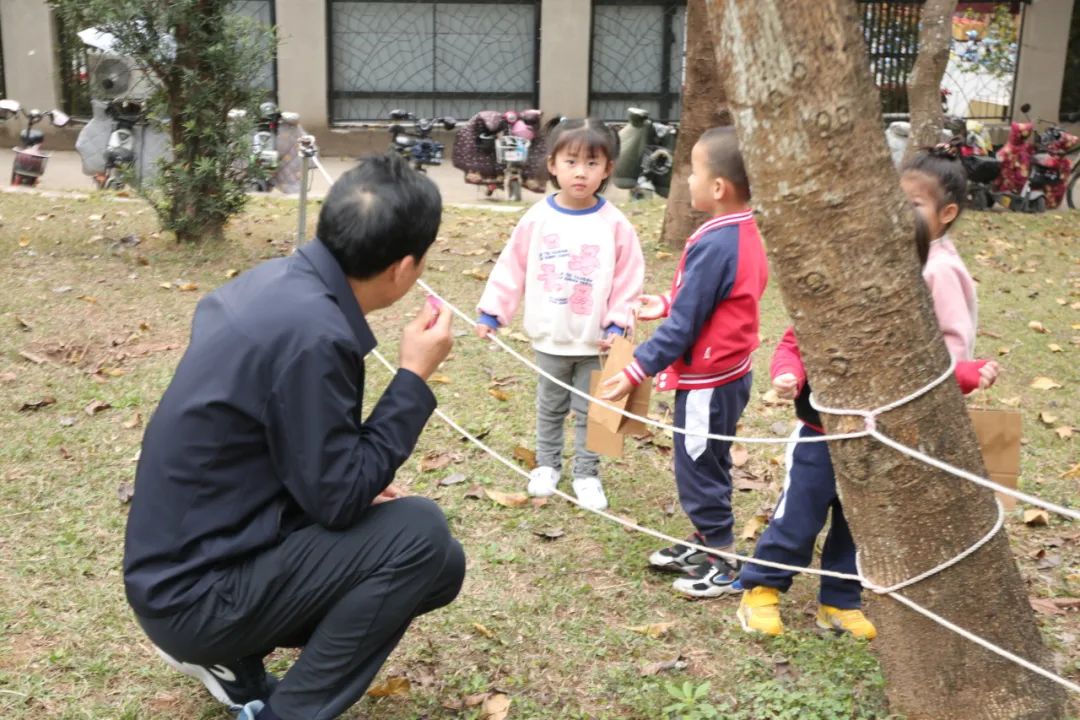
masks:
<instances>
[{"instance_id":1,"label":"slim background tree trunk right of the large roped tree","mask_svg":"<svg viewBox=\"0 0 1080 720\"><path fill-rule=\"evenodd\" d=\"M927 0L919 16L919 55L907 85L912 135L904 152L906 161L919 148L936 145L945 125L941 86L948 65L956 0Z\"/></svg>"}]
</instances>

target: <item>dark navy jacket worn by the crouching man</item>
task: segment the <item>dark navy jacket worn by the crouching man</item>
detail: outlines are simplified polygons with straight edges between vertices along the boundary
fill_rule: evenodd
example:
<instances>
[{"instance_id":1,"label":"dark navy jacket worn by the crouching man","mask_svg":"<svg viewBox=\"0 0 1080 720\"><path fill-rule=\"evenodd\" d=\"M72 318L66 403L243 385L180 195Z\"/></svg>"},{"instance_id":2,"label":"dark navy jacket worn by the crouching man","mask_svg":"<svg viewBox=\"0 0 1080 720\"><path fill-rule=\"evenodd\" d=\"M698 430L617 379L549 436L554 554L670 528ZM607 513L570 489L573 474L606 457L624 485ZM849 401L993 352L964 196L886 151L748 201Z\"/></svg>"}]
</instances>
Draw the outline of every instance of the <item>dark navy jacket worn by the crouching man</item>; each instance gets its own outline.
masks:
<instances>
[{"instance_id":1,"label":"dark navy jacket worn by the crouching man","mask_svg":"<svg viewBox=\"0 0 1080 720\"><path fill-rule=\"evenodd\" d=\"M191 604L295 530L356 521L413 452L435 397L399 370L362 422L375 336L318 240L200 301L143 438L124 544L143 616Z\"/></svg>"}]
</instances>

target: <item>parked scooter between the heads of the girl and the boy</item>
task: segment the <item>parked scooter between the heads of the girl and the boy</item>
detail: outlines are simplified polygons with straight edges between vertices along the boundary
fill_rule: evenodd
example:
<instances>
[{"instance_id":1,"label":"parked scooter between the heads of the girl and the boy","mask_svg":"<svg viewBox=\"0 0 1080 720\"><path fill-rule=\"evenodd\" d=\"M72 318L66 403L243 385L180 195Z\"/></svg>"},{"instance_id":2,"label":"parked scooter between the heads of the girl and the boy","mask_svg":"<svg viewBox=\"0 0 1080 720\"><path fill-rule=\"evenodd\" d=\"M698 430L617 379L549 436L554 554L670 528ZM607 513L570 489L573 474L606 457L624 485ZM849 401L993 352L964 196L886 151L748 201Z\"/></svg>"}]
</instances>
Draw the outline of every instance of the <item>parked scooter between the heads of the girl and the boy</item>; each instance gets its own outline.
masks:
<instances>
[{"instance_id":1,"label":"parked scooter between the heads of the girl and the boy","mask_svg":"<svg viewBox=\"0 0 1080 720\"><path fill-rule=\"evenodd\" d=\"M619 131L619 159L615 163L615 185L630 190L633 200L653 193L667 196L675 165L674 125L657 122L647 110L627 108L627 123Z\"/></svg>"}]
</instances>

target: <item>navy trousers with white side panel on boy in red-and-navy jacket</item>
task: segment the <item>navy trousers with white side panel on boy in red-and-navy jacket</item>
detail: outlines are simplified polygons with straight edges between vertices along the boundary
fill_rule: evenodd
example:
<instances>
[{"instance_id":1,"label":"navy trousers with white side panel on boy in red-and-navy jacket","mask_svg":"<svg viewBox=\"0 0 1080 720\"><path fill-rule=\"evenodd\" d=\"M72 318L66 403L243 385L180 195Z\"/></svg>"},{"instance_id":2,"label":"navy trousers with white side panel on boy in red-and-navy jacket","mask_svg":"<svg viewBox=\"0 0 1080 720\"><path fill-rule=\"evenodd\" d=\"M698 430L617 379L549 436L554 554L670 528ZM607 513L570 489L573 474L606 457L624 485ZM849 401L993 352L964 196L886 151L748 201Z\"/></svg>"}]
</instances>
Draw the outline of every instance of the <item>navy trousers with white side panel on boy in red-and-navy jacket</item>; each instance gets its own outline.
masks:
<instances>
[{"instance_id":1,"label":"navy trousers with white side panel on boy in red-and-navy jacket","mask_svg":"<svg viewBox=\"0 0 1080 720\"><path fill-rule=\"evenodd\" d=\"M739 380L706 390L675 392L675 424L694 432L734 435L753 382ZM711 547L734 543L731 514L731 443L675 434L675 485L693 527Z\"/></svg>"}]
</instances>

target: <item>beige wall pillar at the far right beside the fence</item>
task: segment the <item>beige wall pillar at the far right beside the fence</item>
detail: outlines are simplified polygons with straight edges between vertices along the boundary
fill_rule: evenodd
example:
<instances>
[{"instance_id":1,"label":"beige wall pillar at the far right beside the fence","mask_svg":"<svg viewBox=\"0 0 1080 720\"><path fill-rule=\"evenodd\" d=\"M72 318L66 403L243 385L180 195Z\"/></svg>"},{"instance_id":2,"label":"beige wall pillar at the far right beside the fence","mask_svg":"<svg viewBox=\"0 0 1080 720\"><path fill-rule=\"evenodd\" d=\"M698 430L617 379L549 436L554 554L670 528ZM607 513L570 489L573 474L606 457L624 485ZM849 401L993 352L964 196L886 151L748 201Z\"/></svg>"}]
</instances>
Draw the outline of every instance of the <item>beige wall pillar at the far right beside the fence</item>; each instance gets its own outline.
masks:
<instances>
[{"instance_id":1,"label":"beige wall pillar at the far right beside the fence","mask_svg":"<svg viewBox=\"0 0 1080 720\"><path fill-rule=\"evenodd\" d=\"M1031 118L1057 120L1065 80L1065 55L1074 0L1034 0L1024 8L1020 67L1013 92L1013 118L1020 106L1031 104Z\"/></svg>"}]
</instances>

